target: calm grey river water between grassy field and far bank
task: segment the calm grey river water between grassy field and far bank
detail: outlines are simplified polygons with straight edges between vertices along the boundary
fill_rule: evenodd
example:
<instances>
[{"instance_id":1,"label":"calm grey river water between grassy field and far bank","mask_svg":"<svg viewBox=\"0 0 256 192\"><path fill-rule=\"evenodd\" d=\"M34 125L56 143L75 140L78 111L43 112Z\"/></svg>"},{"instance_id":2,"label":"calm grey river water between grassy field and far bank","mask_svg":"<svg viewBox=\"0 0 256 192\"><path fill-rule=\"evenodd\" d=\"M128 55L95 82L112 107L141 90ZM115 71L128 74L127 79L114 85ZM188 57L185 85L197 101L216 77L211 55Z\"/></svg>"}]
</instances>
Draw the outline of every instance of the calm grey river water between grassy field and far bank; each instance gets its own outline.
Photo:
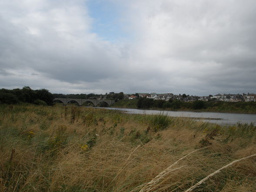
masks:
<instances>
[{"instance_id":1,"label":"calm grey river water between grassy field and far bank","mask_svg":"<svg viewBox=\"0 0 256 192\"><path fill-rule=\"evenodd\" d=\"M189 117L189 118L214 118L203 119L202 121L217 123L217 124L236 124L251 123L256 124L256 114L240 114L240 113L215 113L215 112L192 112L192 111L157 111L157 110L141 110L141 109L127 109L127 108L106 108L125 111L130 114L145 114L158 115L161 113L167 114L170 117ZM218 120L216 120L218 118ZM219 119L220 118L220 119Z\"/></svg>"}]
</instances>

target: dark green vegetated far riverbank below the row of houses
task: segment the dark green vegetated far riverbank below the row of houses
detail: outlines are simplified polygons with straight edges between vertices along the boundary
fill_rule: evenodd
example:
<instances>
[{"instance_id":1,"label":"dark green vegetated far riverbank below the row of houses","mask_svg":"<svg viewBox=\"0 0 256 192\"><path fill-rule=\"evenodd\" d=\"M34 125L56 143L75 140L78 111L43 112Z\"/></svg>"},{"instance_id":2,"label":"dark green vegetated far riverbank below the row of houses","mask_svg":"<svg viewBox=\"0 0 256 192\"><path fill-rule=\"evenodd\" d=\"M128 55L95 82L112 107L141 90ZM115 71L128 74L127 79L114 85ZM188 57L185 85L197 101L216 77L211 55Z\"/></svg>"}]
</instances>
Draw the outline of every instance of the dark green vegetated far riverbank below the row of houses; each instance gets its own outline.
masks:
<instances>
[{"instance_id":1,"label":"dark green vegetated far riverbank below the row of houses","mask_svg":"<svg viewBox=\"0 0 256 192\"><path fill-rule=\"evenodd\" d=\"M117 108L138 108L158 109L172 111L212 111L212 112L235 112L235 113L256 113L256 102L225 102L225 101L193 101L182 102L179 100L153 100L149 98L123 99L111 107Z\"/></svg>"}]
</instances>

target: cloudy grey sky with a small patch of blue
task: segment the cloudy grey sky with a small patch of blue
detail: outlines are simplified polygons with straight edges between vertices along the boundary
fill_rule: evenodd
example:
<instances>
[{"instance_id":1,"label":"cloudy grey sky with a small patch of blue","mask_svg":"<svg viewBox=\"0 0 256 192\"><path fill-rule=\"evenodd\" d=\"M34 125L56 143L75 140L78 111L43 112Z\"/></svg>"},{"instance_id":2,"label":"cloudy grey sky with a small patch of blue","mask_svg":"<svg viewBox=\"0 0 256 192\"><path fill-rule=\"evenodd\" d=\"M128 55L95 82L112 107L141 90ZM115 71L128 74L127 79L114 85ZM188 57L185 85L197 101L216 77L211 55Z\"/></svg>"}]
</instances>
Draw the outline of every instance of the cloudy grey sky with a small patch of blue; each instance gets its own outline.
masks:
<instances>
[{"instance_id":1,"label":"cloudy grey sky with a small patch of blue","mask_svg":"<svg viewBox=\"0 0 256 192\"><path fill-rule=\"evenodd\" d=\"M256 93L255 0L0 0L0 88Z\"/></svg>"}]
</instances>

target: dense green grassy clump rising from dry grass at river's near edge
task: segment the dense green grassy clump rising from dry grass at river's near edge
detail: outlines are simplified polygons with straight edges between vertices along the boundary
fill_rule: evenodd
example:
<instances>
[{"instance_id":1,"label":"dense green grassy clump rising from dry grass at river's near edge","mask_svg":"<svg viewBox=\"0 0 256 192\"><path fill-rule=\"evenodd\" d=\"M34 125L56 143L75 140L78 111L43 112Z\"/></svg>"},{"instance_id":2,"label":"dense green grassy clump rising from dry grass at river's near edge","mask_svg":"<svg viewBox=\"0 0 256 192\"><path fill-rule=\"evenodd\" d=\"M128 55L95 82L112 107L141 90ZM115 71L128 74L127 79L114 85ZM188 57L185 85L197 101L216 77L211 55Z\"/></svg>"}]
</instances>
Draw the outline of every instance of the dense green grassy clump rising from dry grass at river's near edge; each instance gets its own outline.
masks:
<instances>
[{"instance_id":1,"label":"dense green grassy clump rising from dry grass at river's near edge","mask_svg":"<svg viewBox=\"0 0 256 192\"><path fill-rule=\"evenodd\" d=\"M160 113L159 115L152 116L150 124L152 125L153 130L156 132L167 128L171 124L171 119L167 114L164 115L163 113Z\"/></svg>"}]
</instances>

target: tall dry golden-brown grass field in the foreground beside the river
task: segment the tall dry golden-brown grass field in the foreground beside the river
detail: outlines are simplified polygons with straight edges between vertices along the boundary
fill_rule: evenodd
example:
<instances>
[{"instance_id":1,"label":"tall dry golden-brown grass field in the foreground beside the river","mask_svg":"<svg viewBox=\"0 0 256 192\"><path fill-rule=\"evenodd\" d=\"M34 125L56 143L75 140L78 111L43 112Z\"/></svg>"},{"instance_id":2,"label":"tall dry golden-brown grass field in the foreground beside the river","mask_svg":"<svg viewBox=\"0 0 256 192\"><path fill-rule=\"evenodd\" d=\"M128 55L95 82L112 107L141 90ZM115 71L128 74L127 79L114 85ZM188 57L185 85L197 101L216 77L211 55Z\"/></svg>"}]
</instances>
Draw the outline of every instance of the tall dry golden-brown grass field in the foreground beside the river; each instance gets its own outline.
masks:
<instances>
[{"instance_id":1,"label":"tall dry golden-brown grass field in the foreground beside the river","mask_svg":"<svg viewBox=\"0 0 256 192\"><path fill-rule=\"evenodd\" d=\"M0 105L1 192L255 192L256 126Z\"/></svg>"}]
</instances>

